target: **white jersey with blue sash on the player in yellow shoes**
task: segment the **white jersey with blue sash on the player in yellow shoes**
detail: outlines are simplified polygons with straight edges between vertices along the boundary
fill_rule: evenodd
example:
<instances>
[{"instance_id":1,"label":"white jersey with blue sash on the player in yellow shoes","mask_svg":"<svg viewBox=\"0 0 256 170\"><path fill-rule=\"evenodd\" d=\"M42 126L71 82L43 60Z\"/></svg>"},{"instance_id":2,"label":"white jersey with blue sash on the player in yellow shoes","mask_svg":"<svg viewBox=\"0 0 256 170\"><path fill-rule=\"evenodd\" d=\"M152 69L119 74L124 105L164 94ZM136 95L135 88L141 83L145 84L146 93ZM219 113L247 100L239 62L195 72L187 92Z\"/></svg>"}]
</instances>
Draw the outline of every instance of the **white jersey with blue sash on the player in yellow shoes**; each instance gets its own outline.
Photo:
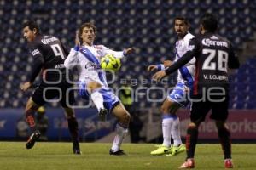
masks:
<instances>
[{"instance_id":1,"label":"white jersey with blue sash on the player in yellow shoes","mask_svg":"<svg viewBox=\"0 0 256 170\"><path fill-rule=\"evenodd\" d=\"M195 36L188 33L183 39L176 42L175 47L175 61L183 56L189 50L189 41ZM177 82L193 83L195 80L195 57L189 61L186 65L178 69Z\"/></svg>"}]
</instances>

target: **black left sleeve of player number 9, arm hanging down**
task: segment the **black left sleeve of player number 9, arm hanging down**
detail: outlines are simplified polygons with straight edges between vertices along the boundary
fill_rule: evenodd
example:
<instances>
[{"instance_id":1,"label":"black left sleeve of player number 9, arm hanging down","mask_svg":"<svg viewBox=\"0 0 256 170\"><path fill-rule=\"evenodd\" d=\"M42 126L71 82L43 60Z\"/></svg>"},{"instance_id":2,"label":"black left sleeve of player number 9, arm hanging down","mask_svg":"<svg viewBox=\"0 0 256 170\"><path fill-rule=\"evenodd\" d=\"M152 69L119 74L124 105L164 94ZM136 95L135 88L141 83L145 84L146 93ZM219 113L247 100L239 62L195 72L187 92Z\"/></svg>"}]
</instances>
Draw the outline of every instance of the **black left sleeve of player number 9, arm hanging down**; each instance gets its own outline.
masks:
<instances>
[{"instance_id":1,"label":"black left sleeve of player number 9, arm hanging down","mask_svg":"<svg viewBox=\"0 0 256 170\"><path fill-rule=\"evenodd\" d=\"M32 73L29 76L29 82L34 82L44 64L44 56L41 54L38 45L33 43L30 45L30 53L32 54L33 65Z\"/></svg>"}]
</instances>

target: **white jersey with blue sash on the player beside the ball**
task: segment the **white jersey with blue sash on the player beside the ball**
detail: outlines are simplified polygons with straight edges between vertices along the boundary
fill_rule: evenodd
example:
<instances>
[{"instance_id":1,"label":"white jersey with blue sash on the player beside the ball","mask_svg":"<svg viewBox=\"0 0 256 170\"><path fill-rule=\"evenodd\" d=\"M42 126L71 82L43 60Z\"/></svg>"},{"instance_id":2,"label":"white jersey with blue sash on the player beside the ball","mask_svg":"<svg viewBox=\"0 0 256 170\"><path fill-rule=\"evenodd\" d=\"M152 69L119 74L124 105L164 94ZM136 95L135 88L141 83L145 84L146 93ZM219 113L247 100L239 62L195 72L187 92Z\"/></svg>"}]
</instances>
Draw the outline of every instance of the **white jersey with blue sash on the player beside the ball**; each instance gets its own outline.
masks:
<instances>
[{"instance_id":1,"label":"white jersey with blue sash on the player beside the ball","mask_svg":"<svg viewBox=\"0 0 256 170\"><path fill-rule=\"evenodd\" d=\"M71 48L64 65L68 69L74 66L79 71L79 82L98 82L102 88L108 89L106 73L101 69L101 58L106 54L113 54L116 58L124 56L123 51L113 51L103 45L81 46L79 51Z\"/></svg>"}]
</instances>

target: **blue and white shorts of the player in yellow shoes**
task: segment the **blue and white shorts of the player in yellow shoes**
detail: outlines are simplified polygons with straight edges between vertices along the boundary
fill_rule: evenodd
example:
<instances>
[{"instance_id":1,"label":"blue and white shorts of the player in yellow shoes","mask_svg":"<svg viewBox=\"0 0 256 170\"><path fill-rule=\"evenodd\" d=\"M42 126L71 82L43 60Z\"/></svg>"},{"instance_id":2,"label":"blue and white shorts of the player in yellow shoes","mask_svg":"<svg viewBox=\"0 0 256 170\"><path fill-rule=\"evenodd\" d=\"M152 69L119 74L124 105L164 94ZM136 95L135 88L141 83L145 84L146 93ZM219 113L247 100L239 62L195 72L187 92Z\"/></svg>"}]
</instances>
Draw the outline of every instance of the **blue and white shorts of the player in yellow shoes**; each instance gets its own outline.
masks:
<instances>
[{"instance_id":1,"label":"blue and white shorts of the player in yellow shoes","mask_svg":"<svg viewBox=\"0 0 256 170\"><path fill-rule=\"evenodd\" d=\"M187 86L184 83L177 82L176 86L172 90L172 93L169 94L167 98L185 107L189 104L188 97L193 91L192 87L193 86Z\"/></svg>"}]
</instances>

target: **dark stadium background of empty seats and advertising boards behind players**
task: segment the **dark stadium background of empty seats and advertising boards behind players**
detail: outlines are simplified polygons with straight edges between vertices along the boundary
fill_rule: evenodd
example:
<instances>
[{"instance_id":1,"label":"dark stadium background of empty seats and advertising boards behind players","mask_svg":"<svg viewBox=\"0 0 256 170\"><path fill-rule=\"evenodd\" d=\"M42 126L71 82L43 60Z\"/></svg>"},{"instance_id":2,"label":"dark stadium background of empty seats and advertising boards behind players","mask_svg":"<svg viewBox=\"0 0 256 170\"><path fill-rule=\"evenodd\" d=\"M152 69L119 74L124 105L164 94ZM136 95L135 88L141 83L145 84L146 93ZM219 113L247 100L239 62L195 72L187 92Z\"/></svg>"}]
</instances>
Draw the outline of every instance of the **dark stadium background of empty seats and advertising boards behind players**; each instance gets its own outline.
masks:
<instances>
[{"instance_id":1,"label":"dark stadium background of empty seats and advertising boards behind players","mask_svg":"<svg viewBox=\"0 0 256 170\"><path fill-rule=\"evenodd\" d=\"M151 86L168 88L175 83L175 75L169 83L151 82L146 72L149 64L159 64L172 59L176 40L173 20L182 15L189 18L191 32L197 34L197 26L204 12L218 14L220 35L228 37L236 48L241 67L230 76L230 129L232 138L255 141L256 139L256 1L255 0L0 0L0 139L17 137L17 122L22 120L26 100L32 90L20 91L32 69L26 42L22 37L22 23L36 20L45 34L60 37L68 48L73 47L76 29L85 21L97 27L96 43L122 50L136 47L136 54L122 59L122 67L110 86L118 88L122 80L132 83L133 89ZM148 82L147 82L148 81ZM145 82L145 83L144 83ZM36 85L35 85L36 86ZM144 122L142 142L160 142L160 102L148 102L145 90L139 91L134 103ZM150 93L151 99L162 96L158 90ZM78 105L85 105L82 99ZM49 139L69 139L67 122L60 105L46 105L49 117ZM96 109L77 109L81 139L95 141L106 137L113 130L114 120L97 122ZM183 110L183 134L189 121L189 111ZM26 123L20 128L26 128ZM201 139L216 139L210 122L201 127ZM25 135L26 136L26 135ZM26 137L22 137L26 138ZM107 138L105 138L108 141ZM102 139L104 141L104 138Z\"/></svg>"}]
</instances>

